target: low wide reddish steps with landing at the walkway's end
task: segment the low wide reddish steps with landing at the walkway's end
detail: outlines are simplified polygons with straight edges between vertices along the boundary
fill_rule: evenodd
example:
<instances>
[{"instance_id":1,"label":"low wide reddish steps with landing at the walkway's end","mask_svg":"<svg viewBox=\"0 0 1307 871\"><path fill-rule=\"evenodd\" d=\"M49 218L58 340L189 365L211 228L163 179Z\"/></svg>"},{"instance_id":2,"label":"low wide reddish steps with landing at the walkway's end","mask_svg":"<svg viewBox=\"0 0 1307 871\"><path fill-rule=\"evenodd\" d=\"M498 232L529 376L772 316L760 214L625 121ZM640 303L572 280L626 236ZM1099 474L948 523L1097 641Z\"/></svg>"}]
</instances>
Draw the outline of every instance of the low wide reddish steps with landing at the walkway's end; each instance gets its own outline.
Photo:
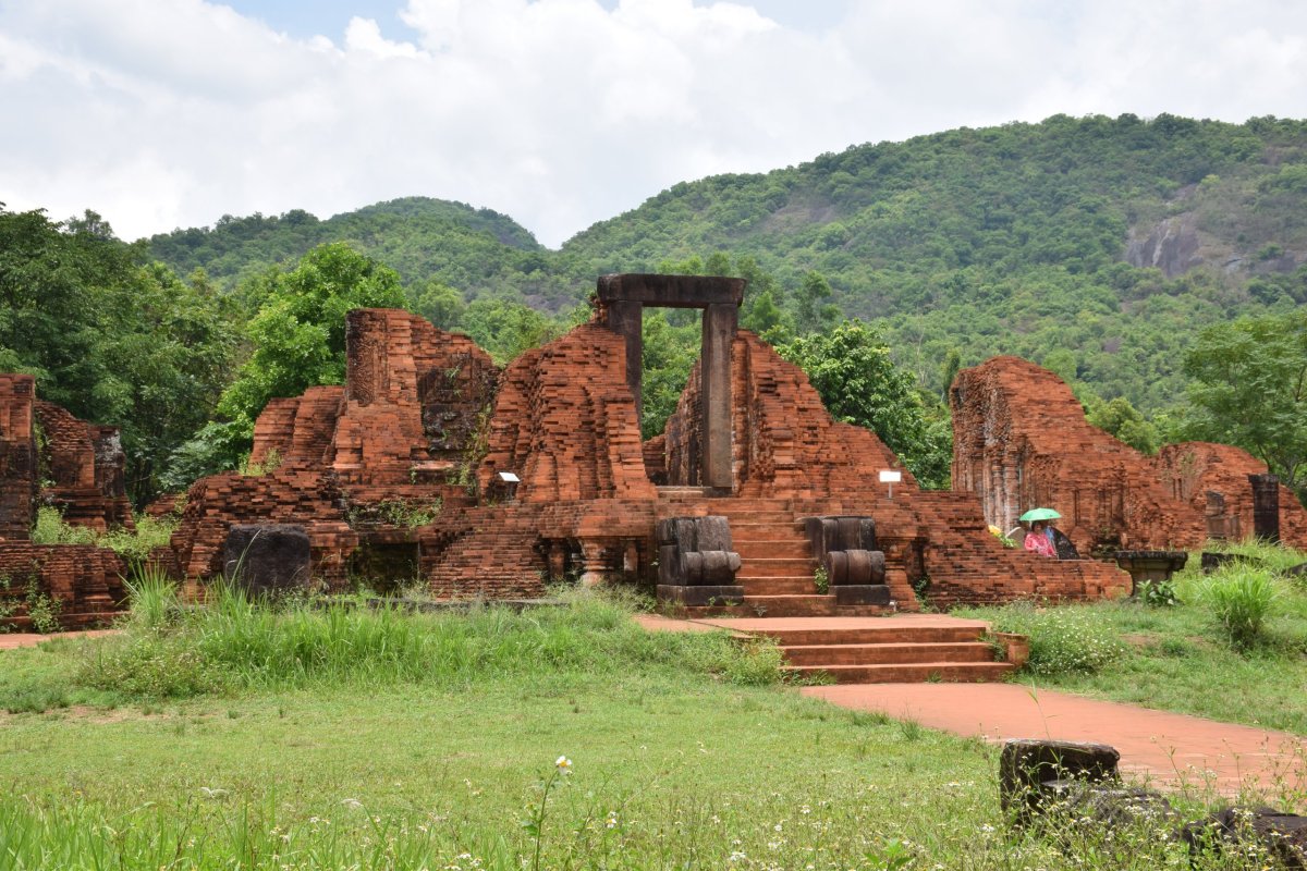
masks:
<instances>
[{"instance_id":1,"label":"low wide reddish steps with landing at the walkway's end","mask_svg":"<svg viewBox=\"0 0 1307 871\"><path fill-rule=\"evenodd\" d=\"M825 673L835 683L1001 680L1016 666L995 661L987 626L936 614L886 619L710 619L746 635L775 639L799 675Z\"/></svg>"}]
</instances>

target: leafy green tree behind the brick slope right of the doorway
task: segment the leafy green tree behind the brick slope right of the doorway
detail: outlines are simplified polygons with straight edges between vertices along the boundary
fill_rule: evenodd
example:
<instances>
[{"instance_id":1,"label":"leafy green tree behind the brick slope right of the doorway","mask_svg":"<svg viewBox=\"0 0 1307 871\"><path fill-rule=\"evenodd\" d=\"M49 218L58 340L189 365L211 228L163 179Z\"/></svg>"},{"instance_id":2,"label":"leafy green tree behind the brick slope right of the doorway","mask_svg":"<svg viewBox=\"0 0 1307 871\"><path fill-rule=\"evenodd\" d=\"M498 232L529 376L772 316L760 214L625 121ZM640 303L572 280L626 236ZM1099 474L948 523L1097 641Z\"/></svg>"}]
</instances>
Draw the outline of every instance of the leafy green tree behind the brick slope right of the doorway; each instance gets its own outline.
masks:
<instances>
[{"instance_id":1,"label":"leafy green tree behind the brick slope right of the doorway","mask_svg":"<svg viewBox=\"0 0 1307 871\"><path fill-rule=\"evenodd\" d=\"M844 321L778 350L808 373L831 417L876 432L923 486L948 486L953 454L948 414L942 409L928 414L912 376L894 366L876 329Z\"/></svg>"}]
</instances>

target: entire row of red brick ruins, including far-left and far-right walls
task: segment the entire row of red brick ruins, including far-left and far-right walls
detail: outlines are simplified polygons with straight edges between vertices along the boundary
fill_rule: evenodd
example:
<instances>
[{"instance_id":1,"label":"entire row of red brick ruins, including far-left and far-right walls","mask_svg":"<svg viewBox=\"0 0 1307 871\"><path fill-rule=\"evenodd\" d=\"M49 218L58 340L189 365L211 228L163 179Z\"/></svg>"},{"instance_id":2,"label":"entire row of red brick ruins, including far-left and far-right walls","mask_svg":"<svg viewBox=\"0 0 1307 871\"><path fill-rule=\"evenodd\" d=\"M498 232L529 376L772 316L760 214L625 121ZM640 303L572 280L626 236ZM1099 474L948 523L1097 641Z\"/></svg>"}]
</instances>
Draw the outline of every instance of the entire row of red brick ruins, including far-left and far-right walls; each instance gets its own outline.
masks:
<instances>
[{"instance_id":1,"label":"entire row of red brick ruins, including far-left and far-right walls","mask_svg":"<svg viewBox=\"0 0 1307 871\"><path fill-rule=\"evenodd\" d=\"M643 585L690 614L877 615L916 610L921 590L944 607L1129 592L1110 563L1042 559L987 531L1029 507L1060 511L1084 554L1195 548L1247 535L1265 513L1248 478L1265 467L1244 452L1145 457L1016 358L958 375L957 490L921 490L873 432L833 420L796 366L738 329L742 295L732 278L608 276L589 323L503 370L408 312L353 311L345 384L269 402L259 474L197 481L152 560L201 595L231 567L234 528L282 524L306 541L303 580L327 590L366 577L438 599L535 598L582 578ZM650 306L699 309L703 353L664 432L642 440ZM111 610L125 567L111 551L31 545L33 512L129 524L116 445L41 402L30 377L0 376L0 575L35 578L65 615ZM893 494L885 470L902 475ZM1287 490L1274 495L1281 537L1307 545L1307 515Z\"/></svg>"}]
</instances>

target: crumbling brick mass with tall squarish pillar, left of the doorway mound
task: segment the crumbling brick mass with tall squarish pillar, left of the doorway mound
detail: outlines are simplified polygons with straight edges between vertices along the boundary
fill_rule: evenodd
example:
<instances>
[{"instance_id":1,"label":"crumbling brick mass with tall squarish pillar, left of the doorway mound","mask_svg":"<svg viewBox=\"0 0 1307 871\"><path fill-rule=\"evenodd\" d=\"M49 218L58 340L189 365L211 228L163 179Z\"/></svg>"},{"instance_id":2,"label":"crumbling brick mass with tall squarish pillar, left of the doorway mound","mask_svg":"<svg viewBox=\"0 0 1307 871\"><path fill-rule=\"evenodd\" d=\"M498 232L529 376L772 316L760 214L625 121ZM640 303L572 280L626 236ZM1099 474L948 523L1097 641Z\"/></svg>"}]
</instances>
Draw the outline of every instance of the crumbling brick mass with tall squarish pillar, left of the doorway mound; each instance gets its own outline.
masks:
<instances>
[{"instance_id":1,"label":"crumbling brick mass with tall squarish pillar, left of the doorway mound","mask_svg":"<svg viewBox=\"0 0 1307 871\"><path fill-rule=\"evenodd\" d=\"M359 560L434 571L471 528L467 483L498 376L490 356L393 309L350 312L346 343L346 384L269 402L251 453L260 474L196 482L161 564L214 577L233 525L297 524L308 534L316 580L339 589ZM514 559L516 593L538 589L540 567L521 565L520 551ZM506 577L491 586L514 593Z\"/></svg>"}]
</instances>

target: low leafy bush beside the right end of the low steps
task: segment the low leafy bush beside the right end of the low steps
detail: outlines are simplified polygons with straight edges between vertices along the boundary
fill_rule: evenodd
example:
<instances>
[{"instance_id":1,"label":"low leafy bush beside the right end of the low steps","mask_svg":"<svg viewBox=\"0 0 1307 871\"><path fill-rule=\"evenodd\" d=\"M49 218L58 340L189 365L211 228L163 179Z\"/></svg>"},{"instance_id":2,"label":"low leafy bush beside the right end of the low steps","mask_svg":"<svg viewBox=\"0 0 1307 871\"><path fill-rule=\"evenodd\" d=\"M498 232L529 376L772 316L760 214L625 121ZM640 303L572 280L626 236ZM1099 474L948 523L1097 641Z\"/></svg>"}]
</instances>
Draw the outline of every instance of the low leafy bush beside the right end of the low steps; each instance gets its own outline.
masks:
<instances>
[{"instance_id":1,"label":"low leafy bush beside the right end of the low steps","mask_svg":"<svg viewBox=\"0 0 1307 871\"><path fill-rule=\"evenodd\" d=\"M1030 639L1026 669L1038 675L1094 673L1125 654L1125 646L1110 627L1074 609L1014 602L996 609L991 619L996 631Z\"/></svg>"}]
</instances>

